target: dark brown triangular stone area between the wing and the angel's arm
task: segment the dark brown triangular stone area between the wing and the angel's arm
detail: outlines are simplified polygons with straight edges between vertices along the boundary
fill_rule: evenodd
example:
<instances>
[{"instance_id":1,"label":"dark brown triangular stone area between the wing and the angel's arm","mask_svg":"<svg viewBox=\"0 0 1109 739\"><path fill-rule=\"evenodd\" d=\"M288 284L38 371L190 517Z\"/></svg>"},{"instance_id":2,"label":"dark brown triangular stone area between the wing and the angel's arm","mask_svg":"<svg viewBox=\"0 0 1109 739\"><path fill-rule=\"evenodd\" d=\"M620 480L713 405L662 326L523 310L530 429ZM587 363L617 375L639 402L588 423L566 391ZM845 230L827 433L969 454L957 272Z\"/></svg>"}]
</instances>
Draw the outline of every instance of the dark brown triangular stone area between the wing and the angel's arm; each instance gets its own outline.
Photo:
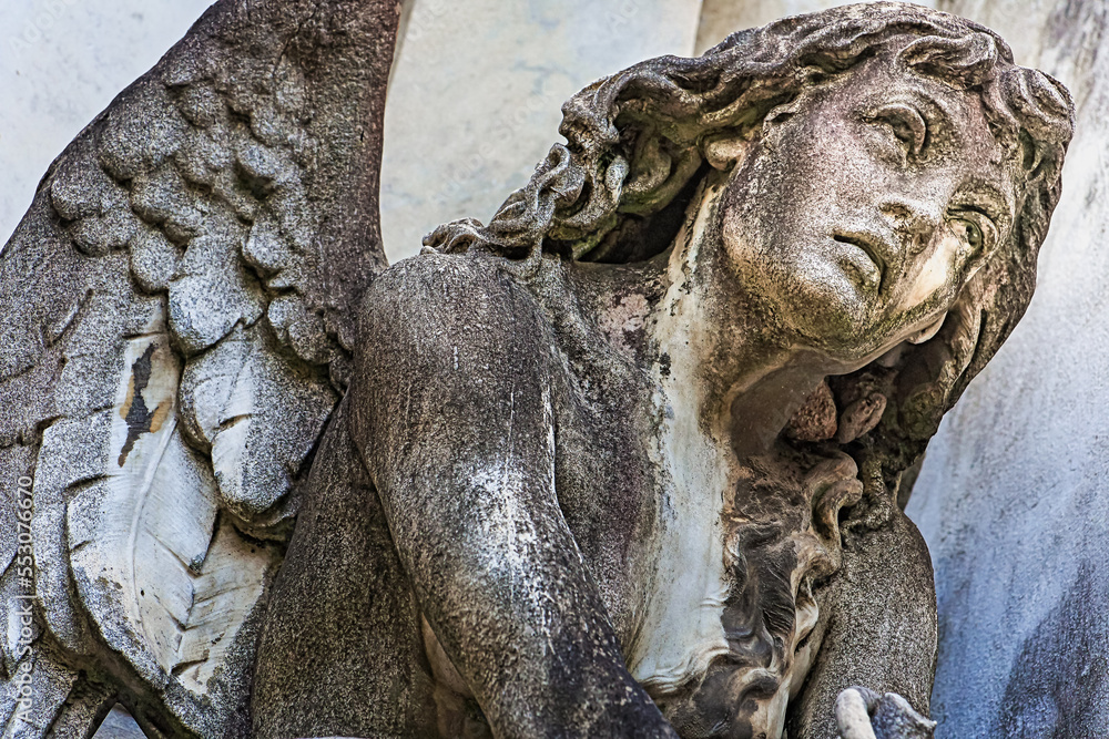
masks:
<instances>
[{"instance_id":1,"label":"dark brown triangular stone area between the wing and the angel's arm","mask_svg":"<svg viewBox=\"0 0 1109 739\"><path fill-rule=\"evenodd\" d=\"M255 709L255 737L436 733L418 607L357 452L334 433L348 423L340 407L313 465L318 494L292 543L311 556L283 566L276 584L261 644L273 658L255 674L254 705L265 707Z\"/></svg>"}]
</instances>

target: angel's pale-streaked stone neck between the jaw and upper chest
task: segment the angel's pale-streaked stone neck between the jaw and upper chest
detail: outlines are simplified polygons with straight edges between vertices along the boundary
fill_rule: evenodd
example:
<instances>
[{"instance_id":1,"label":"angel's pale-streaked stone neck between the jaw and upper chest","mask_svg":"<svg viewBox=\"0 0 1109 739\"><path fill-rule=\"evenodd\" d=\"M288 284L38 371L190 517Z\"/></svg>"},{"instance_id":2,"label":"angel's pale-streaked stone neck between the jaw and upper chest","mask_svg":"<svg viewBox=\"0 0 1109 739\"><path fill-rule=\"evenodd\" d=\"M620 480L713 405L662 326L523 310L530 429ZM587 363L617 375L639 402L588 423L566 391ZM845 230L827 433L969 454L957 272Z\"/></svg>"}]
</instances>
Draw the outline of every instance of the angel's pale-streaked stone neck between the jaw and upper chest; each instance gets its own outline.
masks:
<instances>
[{"instance_id":1,"label":"angel's pale-streaked stone neck between the jaw and upper chest","mask_svg":"<svg viewBox=\"0 0 1109 739\"><path fill-rule=\"evenodd\" d=\"M699 193L673 246L655 259L563 263L561 274L608 341L645 361L652 384L695 413L704 433L757 453L830 372L767 324L739 284L716 217L721 186Z\"/></svg>"}]
</instances>

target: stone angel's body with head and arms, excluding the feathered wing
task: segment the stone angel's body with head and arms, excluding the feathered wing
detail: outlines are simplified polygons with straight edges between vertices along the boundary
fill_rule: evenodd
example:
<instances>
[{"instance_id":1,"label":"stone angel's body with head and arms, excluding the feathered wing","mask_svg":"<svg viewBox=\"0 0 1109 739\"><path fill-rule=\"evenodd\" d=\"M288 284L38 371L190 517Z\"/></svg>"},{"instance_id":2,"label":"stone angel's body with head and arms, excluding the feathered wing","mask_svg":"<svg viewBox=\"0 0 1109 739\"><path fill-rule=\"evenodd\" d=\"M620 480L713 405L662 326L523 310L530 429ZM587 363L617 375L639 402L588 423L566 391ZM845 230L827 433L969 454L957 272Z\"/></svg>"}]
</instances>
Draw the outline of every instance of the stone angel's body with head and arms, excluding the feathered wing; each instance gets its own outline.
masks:
<instances>
[{"instance_id":1,"label":"stone angel's body with head and arms, excluding the feathered wing","mask_svg":"<svg viewBox=\"0 0 1109 739\"><path fill-rule=\"evenodd\" d=\"M895 48L866 51L895 17ZM936 35L910 44L906 27ZM832 79L775 89L805 79L791 53ZM338 524L344 561L367 578L384 561L356 543L365 522L328 517L299 530L296 576L276 587L262 736L415 732L413 706L435 698L448 736L779 737L792 712L800 736L832 739L832 704L859 676L925 708L934 594L897 481L1030 298L1069 135L1066 91L1007 54L978 27L875 6L644 62L571 100L568 144L488 226L437 229L370 288L350 429L325 438L363 452L434 689L302 723L316 622L295 604L327 576L315 553ZM1028 94L988 124L977 85ZM1040 137L1027 157L1021 126ZM1021 168L1037 157L1042 178ZM830 255L857 269L821 268ZM856 297L884 290L881 308ZM762 330L813 343L775 333L783 353L749 355ZM842 439L782 439L823 381ZM405 596L388 594L381 627ZM904 735L912 714L887 711L876 728Z\"/></svg>"}]
</instances>

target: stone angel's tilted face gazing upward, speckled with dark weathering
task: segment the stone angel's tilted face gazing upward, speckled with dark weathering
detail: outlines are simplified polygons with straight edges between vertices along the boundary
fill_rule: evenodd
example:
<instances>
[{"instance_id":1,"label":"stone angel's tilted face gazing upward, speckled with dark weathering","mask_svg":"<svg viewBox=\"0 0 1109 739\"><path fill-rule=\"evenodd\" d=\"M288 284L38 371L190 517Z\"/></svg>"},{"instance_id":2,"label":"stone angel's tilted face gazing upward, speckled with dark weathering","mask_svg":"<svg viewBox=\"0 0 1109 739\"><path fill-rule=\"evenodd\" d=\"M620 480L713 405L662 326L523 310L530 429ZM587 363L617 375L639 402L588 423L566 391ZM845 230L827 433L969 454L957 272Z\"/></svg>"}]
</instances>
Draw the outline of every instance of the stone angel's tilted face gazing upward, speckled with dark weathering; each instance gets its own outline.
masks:
<instances>
[{"instance_id":1,"label":"stone angel's tilted face gazing upward, speckled with dark weathering","mask_svg":"<svg viewBox=\"0 0 1109 739\"><path fill-rule=\"evenodd\" d=\"M772 112L724 198L737 278L846 361L939 329L1004 249L1017 172L977 92L878 57Z\"/></svg>"}]
</instances>

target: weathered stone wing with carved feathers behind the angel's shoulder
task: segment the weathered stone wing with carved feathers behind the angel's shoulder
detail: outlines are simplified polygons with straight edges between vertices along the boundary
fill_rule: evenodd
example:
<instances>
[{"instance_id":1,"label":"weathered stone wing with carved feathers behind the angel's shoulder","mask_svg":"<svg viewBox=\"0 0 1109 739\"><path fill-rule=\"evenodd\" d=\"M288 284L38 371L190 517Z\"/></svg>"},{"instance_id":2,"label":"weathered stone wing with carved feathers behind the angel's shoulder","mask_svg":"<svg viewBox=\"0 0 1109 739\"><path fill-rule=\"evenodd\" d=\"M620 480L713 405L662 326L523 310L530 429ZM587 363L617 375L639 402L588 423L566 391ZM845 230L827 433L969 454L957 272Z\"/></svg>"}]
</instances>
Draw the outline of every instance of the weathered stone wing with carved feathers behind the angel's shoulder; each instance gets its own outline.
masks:
<instances>
[{"instance_id":1,"label":"weathered stone wing with carved feathers behind the angel's shoulder","mask_svg":"<svg viewBox=\"0 0 1109 739\"><path fill-rule=\"evenodd\" d=\"M248 731L296 485L385 266L397 12L216 3L0 255L3 737L80 733L118 699L151 736Z\"/></svg>"}]
</instances>

